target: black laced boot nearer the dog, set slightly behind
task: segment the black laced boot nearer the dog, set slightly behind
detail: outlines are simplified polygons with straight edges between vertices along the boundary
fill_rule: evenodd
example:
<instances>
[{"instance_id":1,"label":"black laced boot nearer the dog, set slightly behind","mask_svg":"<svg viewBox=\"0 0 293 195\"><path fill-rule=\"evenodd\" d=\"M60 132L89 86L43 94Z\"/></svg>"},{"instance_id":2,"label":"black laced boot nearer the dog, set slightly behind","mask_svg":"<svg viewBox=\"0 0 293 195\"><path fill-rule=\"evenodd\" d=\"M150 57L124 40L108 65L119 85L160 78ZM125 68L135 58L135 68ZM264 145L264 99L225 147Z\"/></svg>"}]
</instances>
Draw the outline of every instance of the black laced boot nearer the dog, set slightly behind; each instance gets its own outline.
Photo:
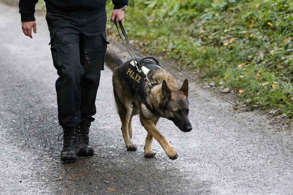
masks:
<instances>
[{"instance_id":1,"label":"black laced boot nearer the dog, set slightly behind","mask_svg":"<svg viewBox=\"0 0 293 195\"><path fill-rule=\"evenodd\" d=\"M78 156L93 155L93 146L88 144L88 132L91 126L91 120L86 119L78 124L79 146L77 148Z\"/></svg>"}]
</instances>

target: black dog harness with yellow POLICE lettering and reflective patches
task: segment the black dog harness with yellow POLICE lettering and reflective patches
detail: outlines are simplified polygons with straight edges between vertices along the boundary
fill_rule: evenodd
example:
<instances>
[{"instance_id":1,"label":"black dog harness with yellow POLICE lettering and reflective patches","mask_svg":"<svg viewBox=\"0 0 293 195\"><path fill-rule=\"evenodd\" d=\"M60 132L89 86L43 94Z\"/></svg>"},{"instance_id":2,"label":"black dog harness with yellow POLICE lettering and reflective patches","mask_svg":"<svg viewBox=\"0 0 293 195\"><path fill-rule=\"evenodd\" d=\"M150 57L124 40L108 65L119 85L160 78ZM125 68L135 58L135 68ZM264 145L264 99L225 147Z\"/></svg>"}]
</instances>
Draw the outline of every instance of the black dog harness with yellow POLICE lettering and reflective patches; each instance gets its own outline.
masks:
<instances>
[{"instance_id":1,"label":"black dog harness with yellow POLICE lettering and reflective patches","mask_svg":"<svg viewBox=\"0 0 293 195\"><path fill-rule=\"evenodd\" d=\"M153 59L155 62L150 59ZM153 57L137 58L137 63L140 64L142 72L144 73L144 75L147 76L149 75L151 70L161 68L159 62ZM149 110L151 110L150 105L147 103L147 92L145 89L148 85L146 85L144 75L137 70L134 61L131 61L127 65L124 72L124 78L126 83L130 86L132 96L134 95L134 92L136 92L140 101L144 105L146 105ZM157 84L159 83L152 83L151 85L149 85L149 87ZM132 104L134 105L134 103Z\"/></svg>"}]
</instances>

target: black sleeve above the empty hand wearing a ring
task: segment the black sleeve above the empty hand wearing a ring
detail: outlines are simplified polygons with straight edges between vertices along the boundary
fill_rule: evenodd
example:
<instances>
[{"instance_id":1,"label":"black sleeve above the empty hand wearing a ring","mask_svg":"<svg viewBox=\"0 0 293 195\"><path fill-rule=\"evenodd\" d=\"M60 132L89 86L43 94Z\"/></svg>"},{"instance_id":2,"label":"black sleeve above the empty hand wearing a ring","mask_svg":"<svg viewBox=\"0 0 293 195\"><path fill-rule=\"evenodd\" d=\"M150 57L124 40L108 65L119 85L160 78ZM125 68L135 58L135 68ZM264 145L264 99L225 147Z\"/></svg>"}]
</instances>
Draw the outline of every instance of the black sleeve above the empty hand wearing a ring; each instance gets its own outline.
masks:
<instances>
[{"instance_id":1,"label":"black sleeve above the empty hand wearing a ring","mask_svg":"<svg viewBox=\"0 0 293 195\"><path fill-rule=\"evenodd\" d=\"M38 0L19 0L18 7L19 13L21 14L21 21L35 21L35 5Z\"/></svg>"}]
</instances>

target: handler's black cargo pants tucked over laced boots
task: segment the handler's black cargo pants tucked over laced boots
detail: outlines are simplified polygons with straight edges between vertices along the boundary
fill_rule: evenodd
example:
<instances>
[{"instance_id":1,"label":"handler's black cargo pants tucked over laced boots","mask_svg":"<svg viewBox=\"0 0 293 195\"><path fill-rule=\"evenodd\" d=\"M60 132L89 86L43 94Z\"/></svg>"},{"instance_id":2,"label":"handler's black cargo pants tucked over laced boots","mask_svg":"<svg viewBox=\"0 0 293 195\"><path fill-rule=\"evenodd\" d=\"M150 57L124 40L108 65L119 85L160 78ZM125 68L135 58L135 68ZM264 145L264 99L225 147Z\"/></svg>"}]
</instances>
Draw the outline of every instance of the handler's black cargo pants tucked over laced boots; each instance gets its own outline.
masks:
<instances>
[{"instance_id":1,"label":"handler's black cargo pants tucked over laced boots","mask_svg":"<svg viewBox=\"0 0 293 195\"><path fill-rule=\"evenodd\" d=\"M96 114L100 72L104 70L106 11L47 12L56 80L58 120L73 127Z\"/></svg>"}]
</instances>

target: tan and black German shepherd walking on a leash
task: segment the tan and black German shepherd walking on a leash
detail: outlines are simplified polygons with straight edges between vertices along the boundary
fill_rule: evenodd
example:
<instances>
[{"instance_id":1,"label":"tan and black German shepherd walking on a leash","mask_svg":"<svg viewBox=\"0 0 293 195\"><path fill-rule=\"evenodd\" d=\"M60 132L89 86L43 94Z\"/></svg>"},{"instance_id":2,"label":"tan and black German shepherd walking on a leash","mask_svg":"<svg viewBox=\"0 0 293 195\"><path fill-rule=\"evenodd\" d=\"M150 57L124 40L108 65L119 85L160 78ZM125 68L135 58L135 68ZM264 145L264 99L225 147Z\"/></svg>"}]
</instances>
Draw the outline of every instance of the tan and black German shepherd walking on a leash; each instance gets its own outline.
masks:
<instances>
[{"instance_id":1,"label":"tan and black German shepherd walking on a leash","mask_svg":"<svg viewBox=\"0 0 293 195\"><path fill-rule=\"evenodd\" d=\"M130 60L132 61L132 60ZM160 117L167 118L183 132L192 130L188 120L188 80L185 79L179 88L178 82L166 70L159 68L150 71L148 78L151 83L159 83L153 87L145 87L147 92L148 109L136 93L132 93L130 86L124 79L127 65L110 49L107 49L105 64L113 71L113 88L117 110L122 122L122 135L128 151L136 151L132 143L132 117L139 114L142 126L147 130L144 145L144 157L153 158L155 153L151 149L153 137L161 144L168 157L175 160L178 155L167 139L156 128ZM143 79L143 78L142 78ZM146 82L147 83L147 82ZM135 106L132 106L134 104Z\"/></svg>"}]
</instances>

